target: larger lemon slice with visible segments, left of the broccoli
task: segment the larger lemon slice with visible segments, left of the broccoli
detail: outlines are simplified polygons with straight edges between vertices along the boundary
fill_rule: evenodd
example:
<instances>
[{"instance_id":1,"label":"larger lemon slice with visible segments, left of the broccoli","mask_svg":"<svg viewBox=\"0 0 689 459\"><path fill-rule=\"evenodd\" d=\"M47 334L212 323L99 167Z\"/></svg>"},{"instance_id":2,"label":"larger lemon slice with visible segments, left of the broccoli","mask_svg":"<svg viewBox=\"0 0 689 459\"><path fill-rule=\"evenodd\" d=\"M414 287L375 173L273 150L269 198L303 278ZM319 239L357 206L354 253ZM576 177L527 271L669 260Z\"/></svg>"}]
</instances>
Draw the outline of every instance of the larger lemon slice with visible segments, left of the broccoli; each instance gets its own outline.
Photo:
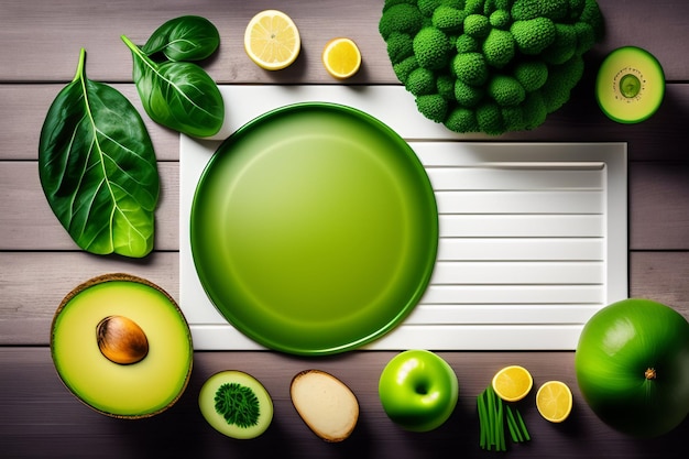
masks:
<instances>
[{"instance_id":1,"label":"larger lemon slice with visible segments, left of the broccoli","mask_svg":"<svg viewBox=\"0 0 689 459\"><path fill-rule=\"evenodd\" d=\"M280 70L299 55L299 31L287 14L265 10L254 15L244 32L244 51L259 67Z\"/></svg>"}]
</instances>

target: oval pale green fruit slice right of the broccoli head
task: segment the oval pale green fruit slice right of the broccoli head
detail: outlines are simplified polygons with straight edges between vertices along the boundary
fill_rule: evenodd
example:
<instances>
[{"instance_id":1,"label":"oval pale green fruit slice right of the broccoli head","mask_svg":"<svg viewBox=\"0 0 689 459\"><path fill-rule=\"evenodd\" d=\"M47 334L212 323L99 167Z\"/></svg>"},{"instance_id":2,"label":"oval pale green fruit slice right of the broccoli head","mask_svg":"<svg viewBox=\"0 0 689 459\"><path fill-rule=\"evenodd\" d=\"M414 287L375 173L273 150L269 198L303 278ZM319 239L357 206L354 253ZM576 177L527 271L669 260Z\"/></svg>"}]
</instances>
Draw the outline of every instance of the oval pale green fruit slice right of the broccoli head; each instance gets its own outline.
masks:
<instances>
[{"instance_id":1,"label":"oval pale green fruit slice right of the broccoli head","mask_svg":"<svg viewBox=\"0 0 689 459\"><path fill-rule=\"evenodd\" d=\"M660 63L636 46L620 47L605 57L595 80L601 110L621 123L636 123L653 116L665 96Z\"/></svg>"}]
</instances>

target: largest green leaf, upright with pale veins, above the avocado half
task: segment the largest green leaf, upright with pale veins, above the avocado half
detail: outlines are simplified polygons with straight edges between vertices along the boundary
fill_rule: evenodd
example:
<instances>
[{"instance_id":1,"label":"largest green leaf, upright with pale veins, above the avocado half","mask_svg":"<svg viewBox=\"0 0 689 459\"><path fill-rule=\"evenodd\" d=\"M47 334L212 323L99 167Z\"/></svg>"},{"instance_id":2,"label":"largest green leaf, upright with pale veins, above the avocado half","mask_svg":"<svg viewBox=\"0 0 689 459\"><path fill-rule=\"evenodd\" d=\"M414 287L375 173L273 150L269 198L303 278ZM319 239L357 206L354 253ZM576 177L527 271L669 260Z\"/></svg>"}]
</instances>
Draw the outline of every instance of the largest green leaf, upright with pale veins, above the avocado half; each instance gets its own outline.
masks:
<instances>
[{"instance_id":1,"label":"largest green leaf, upright with pale veins, above the avocado half","mask_svg":"<svg viewBox=\"0 0 689 459\"><path fill-rule=\"evenodd\" d=\"M153 249L160 177L136 109L77 72L55 97L39 141L39 175L53 212L79 248L145 256Z\"/></svg>"}]
</instances>

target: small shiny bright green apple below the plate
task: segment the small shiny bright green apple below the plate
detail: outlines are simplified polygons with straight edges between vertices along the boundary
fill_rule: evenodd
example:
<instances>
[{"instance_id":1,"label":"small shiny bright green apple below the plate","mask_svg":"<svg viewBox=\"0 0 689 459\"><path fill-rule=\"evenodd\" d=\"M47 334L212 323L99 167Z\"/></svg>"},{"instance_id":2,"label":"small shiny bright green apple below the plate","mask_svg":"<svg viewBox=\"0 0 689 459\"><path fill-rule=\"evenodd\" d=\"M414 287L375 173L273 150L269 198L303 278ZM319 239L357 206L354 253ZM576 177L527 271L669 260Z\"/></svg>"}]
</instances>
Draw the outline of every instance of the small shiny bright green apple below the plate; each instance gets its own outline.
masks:
<instances>
[{"instance_id":1,"label":"small shiny bright green apple below the plate","mask_svg":"<svg viewBox=\"0 0 689 459\"><path fill-rule=\"evenodd\" d=\"M427 350L407 350L387 362L379 381L385 414L406 430L428 431L452 414L459 383L452 368Z\"/></svg>"}]
</instances>

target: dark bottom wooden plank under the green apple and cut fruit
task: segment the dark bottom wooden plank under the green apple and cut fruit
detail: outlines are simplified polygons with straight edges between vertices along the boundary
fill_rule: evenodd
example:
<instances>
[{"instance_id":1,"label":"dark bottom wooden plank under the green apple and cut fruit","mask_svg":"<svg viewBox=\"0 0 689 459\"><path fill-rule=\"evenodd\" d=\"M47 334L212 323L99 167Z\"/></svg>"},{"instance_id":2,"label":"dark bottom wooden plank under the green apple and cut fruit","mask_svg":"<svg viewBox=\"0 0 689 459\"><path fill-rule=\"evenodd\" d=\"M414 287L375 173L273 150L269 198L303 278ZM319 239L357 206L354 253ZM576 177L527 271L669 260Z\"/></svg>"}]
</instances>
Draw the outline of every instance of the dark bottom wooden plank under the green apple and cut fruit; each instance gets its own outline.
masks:
<instances>
[{"instance_id":1,"label":"dark bottom wooden plank under the green apple and cut fruit","mask_svg":"<svg viewBox=\"0 0 689 459\"><path fill-rule=\"evenodd\" d=\"M0 348L0 445L3 458L150 458L150 457L371 457L480 458L475 396L500 368L520 363L535 385L551 379L566 382L575 396L567 422L555 425L536 411L534 392L518 405L533 440L508 451L512 458L623 457L680 458L689 434L686 420L671 434L633 440L602 424L577 387L571 352L439 352L457 373L460 400L450 419L437 430L415 434L392 424L378 398L378 379L395 352L350 352L338 358L305 359L272 352L196 352L189 384L168 411L141 420L112 419L79 403L62 386L45 348ZM353 435L341 444L314 436L289 401L289 382L299 371L318 368L346 382L359 398L361 413ZM227 369L247 371L271 393L275 417L266 433L250 441L231 440L211 429L197 397L204 381ZM280 452L276 452L280 451Z\"/></svg>"}]
</instances>

